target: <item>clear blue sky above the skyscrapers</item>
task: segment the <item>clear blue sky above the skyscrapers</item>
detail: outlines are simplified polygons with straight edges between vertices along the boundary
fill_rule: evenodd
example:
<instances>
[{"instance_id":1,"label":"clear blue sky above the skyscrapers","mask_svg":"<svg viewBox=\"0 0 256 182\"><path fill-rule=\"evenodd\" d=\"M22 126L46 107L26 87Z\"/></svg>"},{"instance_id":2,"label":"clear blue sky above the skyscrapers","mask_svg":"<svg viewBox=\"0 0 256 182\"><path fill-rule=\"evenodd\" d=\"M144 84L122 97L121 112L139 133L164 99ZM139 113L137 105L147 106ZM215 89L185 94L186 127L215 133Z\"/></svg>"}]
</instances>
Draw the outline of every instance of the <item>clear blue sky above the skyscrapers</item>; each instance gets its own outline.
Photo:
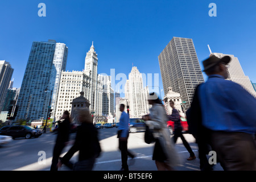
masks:
<instances>
[{"instance_id":1,"label":"clear blue sky above the skyscrapers","mask_svg":"<svg viewBox=\"0 0 256 182\"><path fill-rule=\"evenodd\" d=\"M38 16L41 2L46 17ZM217 17L208 15L212 2ZM238 57L245 75L256 82L255 6L254 0L2 0L0 60L10 62L14 87L19 87L33 41L67 44L69 71L82 71L94 41L98 73L110 75L115 69L116 75L128 76L134 64L142 73L159 73L162 89L158 55L177 36L193 39L200 65L209 56L209 44L212 52Z\"/></svg>"}]
</instances>

